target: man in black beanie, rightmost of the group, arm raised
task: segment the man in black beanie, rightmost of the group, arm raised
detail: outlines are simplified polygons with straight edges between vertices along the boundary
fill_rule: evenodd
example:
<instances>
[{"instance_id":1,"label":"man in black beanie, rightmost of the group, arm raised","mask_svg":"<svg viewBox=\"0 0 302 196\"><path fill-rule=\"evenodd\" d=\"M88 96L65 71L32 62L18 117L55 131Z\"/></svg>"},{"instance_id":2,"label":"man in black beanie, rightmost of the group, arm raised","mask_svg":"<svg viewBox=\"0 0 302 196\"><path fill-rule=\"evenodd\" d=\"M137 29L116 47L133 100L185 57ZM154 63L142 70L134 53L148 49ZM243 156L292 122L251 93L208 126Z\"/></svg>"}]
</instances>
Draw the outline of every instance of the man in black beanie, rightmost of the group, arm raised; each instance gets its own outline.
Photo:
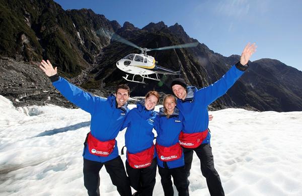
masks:
<instances>
[{"instance_id":1,"label":"man in black beanie, rightmost of the group, arm raised","mask_svg":"<svg viewBox=\"0 0 302 196\"><path fill-rule=\"evenodd\" d=\"M214 168L207 107L225 94L247 70L249 66L247 63L255 51L255 44L248 44L242 52L240 62L231 67L218 81L207 87L197 89L194 86L187 86L182 78L174 79L171 83L173 93L178 97L177 108L185 119L179 142L184 150L187 175L190 173L193 151L195 151L200 159L202 175L206 178L212 196L224 195L224 191L219 174Z\"/></svg>"}]
</instances>

